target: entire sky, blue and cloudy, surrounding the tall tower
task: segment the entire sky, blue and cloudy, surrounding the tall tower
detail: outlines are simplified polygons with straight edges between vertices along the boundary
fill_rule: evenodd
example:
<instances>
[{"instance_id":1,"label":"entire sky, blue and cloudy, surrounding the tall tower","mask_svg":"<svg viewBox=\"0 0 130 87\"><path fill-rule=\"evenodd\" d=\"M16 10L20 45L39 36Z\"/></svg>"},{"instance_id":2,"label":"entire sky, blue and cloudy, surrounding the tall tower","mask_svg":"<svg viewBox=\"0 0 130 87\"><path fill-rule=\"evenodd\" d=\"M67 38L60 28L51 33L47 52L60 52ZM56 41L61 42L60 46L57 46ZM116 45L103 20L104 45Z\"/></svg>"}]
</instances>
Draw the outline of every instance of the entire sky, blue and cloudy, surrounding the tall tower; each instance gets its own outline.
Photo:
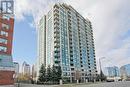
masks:
<instances>
[{"instance_id":1,"label":"entire sky, blue and cloudy, surrounding the tall tower","mask_svg":"<svg viewBox=\"0 0 130 87\"><path fill-rule=\"evenodd\" d=\"M92 22L97 65L101 57L104 66L130 63L130 0L14 0L15 29L13 58L22 63L36 62L38 20L54 3L64 2L74 7ZM34 25L35 24L35 25Z\"/></svg>"}]
</instances>

